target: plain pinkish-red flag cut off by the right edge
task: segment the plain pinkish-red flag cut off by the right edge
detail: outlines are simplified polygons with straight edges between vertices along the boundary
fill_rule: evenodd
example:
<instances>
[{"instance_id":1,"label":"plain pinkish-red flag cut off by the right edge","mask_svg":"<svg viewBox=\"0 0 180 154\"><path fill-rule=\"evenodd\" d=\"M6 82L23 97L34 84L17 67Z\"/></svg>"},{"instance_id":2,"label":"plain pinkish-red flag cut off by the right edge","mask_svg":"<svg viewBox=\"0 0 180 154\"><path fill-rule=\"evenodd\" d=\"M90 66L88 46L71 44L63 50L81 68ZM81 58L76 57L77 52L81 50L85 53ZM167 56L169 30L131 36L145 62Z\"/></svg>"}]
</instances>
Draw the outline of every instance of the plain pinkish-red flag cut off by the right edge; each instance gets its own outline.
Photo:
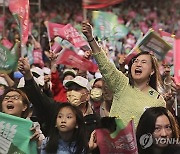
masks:
<instances>
[{"instance_id":1,"label":"plain pinkish-red flag cut off by the right edge","mask_svg":"<svg viewBox=\"0 0 180 154\"><path fill-rule=\"evenodd\" d=\"M180 83L180 39L174 41L174 78Z\"/></svg>"}]
</instances>

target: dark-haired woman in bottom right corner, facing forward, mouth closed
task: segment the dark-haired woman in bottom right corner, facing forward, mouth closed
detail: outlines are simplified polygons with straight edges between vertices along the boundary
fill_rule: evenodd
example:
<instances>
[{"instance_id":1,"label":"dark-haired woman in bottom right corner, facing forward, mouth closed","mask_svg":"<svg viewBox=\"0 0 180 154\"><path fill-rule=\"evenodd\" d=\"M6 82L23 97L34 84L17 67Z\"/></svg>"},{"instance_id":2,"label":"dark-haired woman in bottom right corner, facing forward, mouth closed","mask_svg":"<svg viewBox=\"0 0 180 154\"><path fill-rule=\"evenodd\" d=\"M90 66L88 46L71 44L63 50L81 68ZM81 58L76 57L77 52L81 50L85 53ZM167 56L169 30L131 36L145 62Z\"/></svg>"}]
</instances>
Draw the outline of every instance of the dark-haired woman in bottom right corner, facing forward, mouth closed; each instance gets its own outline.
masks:
<instances>
[{"instance_id":1,"label":"dark-haired woman in bottom right corner, facing forward, mouth closed","mask_svg":"<svg viewBox=\"0 0 180 154\"><path fill-rule=\"evenodd\" d=\"M136 129L138 153L178 154L179 137L179 126L170 111L164 107L148 108Z\"/></svg>"}]
</instances>

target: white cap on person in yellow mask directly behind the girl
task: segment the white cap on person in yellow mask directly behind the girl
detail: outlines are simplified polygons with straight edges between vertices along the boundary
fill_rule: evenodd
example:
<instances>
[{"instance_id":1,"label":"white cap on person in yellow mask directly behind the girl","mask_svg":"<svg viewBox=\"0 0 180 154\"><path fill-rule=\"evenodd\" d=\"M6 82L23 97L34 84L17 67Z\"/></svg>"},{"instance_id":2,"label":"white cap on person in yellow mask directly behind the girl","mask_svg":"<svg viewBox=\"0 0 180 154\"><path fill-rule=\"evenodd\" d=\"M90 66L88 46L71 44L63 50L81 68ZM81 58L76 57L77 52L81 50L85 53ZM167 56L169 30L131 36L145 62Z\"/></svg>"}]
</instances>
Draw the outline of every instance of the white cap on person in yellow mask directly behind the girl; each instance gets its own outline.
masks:
<instances>
[{"instance_id":1,"label":"white cap on person in yellow mask directly behind the girl","mask_svg":"<svg viewBox=\"0 0 180 154\"><path fill-rule=\"evenodd\" d=\"M83 78L82 76L76 76L74 79L67 81L65 86L68 87L72 83L76 83L79 86L84 87L87 90L90 90L90 85L89 85L88 79Z\"/></svg>"}]
</instances>

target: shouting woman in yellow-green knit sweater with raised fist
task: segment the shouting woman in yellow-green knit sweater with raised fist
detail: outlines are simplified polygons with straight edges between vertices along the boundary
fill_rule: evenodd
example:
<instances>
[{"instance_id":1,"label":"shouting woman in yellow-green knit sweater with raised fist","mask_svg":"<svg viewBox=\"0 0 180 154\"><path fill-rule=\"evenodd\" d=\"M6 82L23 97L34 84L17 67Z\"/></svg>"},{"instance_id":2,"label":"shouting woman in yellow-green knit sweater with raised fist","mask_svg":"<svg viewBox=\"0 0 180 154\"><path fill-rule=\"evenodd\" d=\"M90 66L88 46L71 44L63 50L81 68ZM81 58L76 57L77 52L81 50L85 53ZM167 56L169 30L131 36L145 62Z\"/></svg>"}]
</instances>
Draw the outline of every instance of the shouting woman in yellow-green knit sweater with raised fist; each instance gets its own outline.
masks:
<instances>
[{"instance_id":1,"label":"shouting woman in yellow-green knit sweater with raised fist","mask_svg":"<svg viewBox=\"0 0 180 154\"><path fill-rule=\"evenodd\" d=\"M161 78L154 55L150 52L137 54L130 61L126 77L109 61L94 39L92 26L86 21L82 23L82 32L89 42L103 79L113 92L110 116L119 116L125 125L134 116L136 126L146 108L166 105L158 93Z\"/></svg>"}]
</instances>

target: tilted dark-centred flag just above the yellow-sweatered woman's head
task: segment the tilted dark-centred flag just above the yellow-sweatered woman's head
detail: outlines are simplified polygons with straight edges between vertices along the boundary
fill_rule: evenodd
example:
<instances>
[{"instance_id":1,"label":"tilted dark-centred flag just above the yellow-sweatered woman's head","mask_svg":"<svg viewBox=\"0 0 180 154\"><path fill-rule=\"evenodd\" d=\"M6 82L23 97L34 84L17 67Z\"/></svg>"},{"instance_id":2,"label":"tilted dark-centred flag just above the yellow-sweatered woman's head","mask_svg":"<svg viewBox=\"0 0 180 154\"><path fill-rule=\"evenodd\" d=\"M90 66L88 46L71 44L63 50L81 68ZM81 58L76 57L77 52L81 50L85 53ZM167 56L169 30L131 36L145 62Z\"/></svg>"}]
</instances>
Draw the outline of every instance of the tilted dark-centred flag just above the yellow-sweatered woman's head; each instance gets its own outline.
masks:
<instances>
[{"instance_id":1,"label":"tilted dark-centred flag just above the yellow-sweatered woman's head","mask_svg":"<svg viewBox=\"0 0 180 154\"><path fill-rule=\"evenodd\" d=\"M164 59L167 52L172 49L172 46L163 40L159 34L154 30L150 29L142 39L137 41L135 47L128 54L141 52L141 51L150 51L153 52L156 58L160 61Z\"/></svg>"}]
</instances>

